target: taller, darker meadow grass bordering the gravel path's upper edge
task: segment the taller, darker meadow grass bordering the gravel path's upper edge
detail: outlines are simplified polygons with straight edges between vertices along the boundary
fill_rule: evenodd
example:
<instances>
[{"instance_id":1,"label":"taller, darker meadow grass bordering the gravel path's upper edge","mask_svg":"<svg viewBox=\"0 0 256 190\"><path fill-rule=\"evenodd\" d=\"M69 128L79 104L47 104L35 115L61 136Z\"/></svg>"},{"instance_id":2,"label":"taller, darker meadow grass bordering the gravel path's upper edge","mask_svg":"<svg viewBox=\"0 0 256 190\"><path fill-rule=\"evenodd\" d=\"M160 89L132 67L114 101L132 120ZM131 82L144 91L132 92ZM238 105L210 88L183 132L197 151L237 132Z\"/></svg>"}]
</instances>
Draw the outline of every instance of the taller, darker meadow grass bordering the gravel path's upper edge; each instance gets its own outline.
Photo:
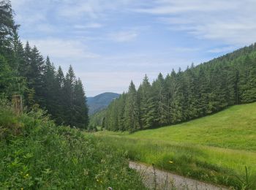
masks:
<instances>
[{"instance_id":1,"label":"taller, darker meadow grass bordering the gravel path's upper edge","mask_svg":"<svg viewBox=\"0 0 256 190\"><path fill-rule=\"evenodd\" d=\"M127 157L134 161L233 189L246 186L246 166L249 186L256 188L256 153L130 137L97 138L116 150L127 151Z\"/></svg>"}]
</instances>

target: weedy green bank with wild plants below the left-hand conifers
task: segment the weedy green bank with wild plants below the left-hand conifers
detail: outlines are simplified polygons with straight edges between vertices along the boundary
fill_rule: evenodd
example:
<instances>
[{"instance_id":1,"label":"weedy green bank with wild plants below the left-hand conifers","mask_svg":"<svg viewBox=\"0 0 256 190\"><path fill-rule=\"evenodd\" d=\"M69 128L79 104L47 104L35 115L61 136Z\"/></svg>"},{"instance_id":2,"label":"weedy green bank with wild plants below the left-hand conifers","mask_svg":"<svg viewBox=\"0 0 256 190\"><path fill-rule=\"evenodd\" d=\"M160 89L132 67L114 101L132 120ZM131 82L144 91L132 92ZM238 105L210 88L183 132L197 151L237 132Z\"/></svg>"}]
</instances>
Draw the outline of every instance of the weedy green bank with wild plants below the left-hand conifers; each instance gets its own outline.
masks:
<instances>
[{"instance_id":1,"label":"weedy green bank with wild plants below the left-hand conifers","mask_svg":"<svg viewBox=\"0 0 256 190\"><path fill-rule=\"evenodd\" d=\"M0 189L145 189L124 151L0 105Z\"/></svg>"}]
</instances>

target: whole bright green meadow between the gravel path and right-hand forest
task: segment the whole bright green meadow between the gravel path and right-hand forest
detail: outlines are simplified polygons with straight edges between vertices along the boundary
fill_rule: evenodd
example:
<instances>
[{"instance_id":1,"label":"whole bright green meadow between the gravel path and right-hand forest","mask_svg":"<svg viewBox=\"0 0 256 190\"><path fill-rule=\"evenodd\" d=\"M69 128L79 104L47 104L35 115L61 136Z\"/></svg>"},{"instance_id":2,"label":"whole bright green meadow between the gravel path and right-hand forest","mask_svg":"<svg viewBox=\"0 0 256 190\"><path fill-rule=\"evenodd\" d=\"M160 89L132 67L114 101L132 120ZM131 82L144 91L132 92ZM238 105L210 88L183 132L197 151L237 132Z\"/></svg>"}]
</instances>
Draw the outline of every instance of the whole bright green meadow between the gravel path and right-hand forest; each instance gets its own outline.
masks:
<instances>
[{"instance_id":1,"label":"whole bright green meadow between the gravel path and right-hand forest","mask_svg":"<svg viewBox=\"0 0 256 190\"><path fill-rule=\"evenodd\" d=\"M174 126L96 136L135 161L235 189L256 189L256 103Z\"/></svg>"}]
</instances>

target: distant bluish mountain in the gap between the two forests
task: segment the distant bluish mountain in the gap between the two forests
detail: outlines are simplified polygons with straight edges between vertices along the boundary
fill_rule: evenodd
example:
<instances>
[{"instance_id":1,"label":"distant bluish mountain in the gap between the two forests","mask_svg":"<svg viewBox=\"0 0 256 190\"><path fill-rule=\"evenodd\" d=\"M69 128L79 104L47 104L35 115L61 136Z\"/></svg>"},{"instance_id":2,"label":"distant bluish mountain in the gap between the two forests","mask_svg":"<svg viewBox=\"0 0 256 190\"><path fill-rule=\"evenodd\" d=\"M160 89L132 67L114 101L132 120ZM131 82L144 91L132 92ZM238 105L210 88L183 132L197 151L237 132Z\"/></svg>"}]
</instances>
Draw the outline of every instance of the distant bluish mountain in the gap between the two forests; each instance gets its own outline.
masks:
<instances>
[{"instance_id":1,"label":"distant bluish mountain in the gap between the two forests","mask_svg":"<svg viewBox=\"0 0 256 190\"><path fill-rule=\"evenodd\" d=\"M118 98L120 94L113 92L105 92L94 97L87 98L87 104L89 106L89 115L99 112L108 107L110 102Z\"/></svg>"}]
</instances>

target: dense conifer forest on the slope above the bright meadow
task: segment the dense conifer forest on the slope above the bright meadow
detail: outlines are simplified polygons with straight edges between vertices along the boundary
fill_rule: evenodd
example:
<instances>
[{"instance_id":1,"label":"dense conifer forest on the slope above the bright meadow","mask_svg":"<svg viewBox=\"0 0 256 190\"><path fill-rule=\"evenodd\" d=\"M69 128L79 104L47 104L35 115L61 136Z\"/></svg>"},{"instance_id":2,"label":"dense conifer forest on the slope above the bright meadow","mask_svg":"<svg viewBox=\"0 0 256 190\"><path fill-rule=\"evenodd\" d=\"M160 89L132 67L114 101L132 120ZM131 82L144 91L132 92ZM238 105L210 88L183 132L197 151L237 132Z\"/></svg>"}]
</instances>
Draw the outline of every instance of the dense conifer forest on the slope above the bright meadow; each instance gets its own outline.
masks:
<instances>
[{"instance_id":1,"label":"dense conifer forest on the slope above the bright meadow","mask_svg":"<svg viewBox=\"0 0 256 190\"><path fill-rule=\"evenodd\" d=\"M113 131L135 131L189 121L234 104L256 101L256 44L198 66L145 76L135 88L92 117L92 125Z\"/></svg>"}]
</instances>

